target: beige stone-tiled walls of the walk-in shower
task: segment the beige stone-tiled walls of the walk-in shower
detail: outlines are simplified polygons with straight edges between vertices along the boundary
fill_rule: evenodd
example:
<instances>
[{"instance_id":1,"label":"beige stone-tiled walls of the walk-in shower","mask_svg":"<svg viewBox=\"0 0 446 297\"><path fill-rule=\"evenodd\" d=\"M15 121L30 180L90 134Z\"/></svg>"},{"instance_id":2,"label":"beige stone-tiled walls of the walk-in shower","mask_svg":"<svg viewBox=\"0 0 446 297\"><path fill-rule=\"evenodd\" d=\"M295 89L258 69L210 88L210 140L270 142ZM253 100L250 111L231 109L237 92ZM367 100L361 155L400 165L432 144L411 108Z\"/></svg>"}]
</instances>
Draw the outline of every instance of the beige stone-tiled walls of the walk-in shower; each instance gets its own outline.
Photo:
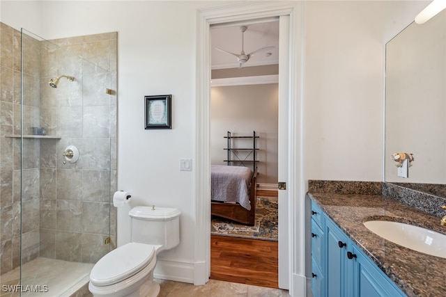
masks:
<instances>
[{"instance_id":1,"label":"beige stone-tiled walls of the walk-in shower","mask_svg":"<svg viewBox=\"0 0 446 297\"><path fill-rule=\"evenodd\" d=\"M34 259L95 263L116 242L117 33L22 32L0 23L1 275ZM61 75L75 79L49 86Z\"/></svg>"}]
</instances>

